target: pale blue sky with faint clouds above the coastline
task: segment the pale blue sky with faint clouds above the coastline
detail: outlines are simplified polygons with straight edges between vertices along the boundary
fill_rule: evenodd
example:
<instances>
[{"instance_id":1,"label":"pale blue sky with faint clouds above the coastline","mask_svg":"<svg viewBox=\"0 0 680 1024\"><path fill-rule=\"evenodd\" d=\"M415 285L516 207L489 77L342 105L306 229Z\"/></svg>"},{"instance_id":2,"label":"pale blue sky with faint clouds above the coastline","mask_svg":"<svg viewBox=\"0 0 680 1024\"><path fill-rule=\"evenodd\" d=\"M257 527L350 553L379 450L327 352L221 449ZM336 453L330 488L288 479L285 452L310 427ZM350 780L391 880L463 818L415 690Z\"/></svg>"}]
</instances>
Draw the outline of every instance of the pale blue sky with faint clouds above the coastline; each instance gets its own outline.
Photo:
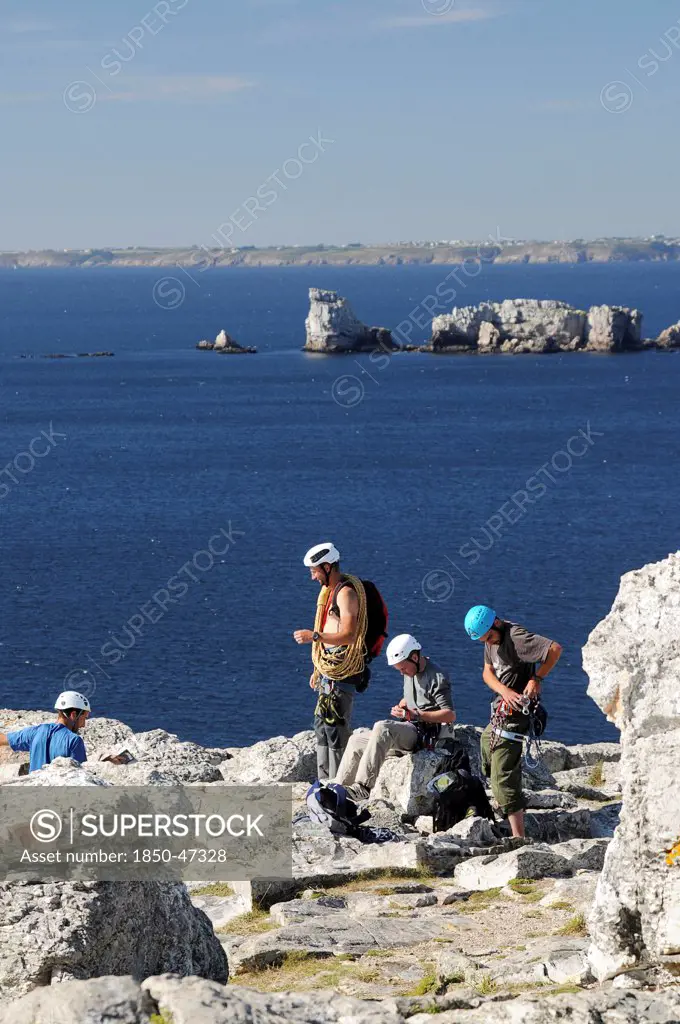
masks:
<instances>
[{"instance_id":1,"label":"pale blue sky with faint clouds above the coastline","mask_svg":"<svg viewBox=\"0 0 680 1024\"><path fill-rule=\"evenodd\" d=\"M0 249L680 233L679 98L675 0L3 0Z\"/></svg>"}]
</instances>

